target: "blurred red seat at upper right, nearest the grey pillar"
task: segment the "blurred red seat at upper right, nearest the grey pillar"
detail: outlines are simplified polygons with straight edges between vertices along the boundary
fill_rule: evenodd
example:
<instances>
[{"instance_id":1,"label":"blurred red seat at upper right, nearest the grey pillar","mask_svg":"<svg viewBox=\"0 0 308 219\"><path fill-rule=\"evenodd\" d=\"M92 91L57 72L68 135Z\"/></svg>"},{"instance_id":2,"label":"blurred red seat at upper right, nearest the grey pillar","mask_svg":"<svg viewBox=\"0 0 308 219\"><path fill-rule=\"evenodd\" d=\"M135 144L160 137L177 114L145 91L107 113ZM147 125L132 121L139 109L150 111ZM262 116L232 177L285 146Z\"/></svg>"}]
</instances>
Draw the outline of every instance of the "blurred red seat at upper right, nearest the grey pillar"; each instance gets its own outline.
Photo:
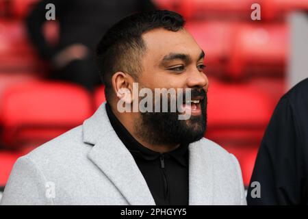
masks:
<instances>
[{"instance_id":1,"label":"blurred red seat at upper right, nearest the grey pillar","mask_svg":"<svg viewBox=\"0 0 308 219\"><path fill-rule=\"evenodd\" d=\"M235 27L228 73L233 78L251 75L283 75L289 44L285 25Z\"/></svg>"}]
</instances>

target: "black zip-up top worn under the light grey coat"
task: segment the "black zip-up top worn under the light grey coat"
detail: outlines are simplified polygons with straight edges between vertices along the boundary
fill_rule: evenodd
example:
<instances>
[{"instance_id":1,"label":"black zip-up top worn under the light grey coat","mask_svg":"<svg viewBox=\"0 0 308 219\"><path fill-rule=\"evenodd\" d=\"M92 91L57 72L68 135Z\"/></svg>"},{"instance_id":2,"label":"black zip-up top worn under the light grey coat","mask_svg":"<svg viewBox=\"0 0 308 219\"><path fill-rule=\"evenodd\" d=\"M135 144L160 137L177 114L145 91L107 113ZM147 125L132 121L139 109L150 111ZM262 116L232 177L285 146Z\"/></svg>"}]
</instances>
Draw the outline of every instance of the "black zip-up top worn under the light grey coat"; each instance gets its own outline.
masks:
<instances>
[{"instance_id":1,"label":"black zip-up top worn under the light grey coat","mask_svg":"<svg viewBox=\"0 0 308 219\"><path fill-rule=\"evenodd\" d=\"M106 110L118 138L142 172L156 205L188 205L188 144L181 144L168 153L151 151L131 136L110 105L106 104Z\"/></svg>"}]
</instances>

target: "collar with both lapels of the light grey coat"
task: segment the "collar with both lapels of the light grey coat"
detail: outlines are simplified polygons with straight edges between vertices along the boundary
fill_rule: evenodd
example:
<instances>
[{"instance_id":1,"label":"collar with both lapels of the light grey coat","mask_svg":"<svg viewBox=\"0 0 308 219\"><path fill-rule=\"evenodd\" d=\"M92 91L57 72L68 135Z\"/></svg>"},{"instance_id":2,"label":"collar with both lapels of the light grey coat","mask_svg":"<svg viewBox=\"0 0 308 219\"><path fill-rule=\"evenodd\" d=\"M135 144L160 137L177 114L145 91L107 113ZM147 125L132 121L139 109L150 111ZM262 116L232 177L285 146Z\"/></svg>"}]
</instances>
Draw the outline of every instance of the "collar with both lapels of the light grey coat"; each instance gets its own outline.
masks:
<instances>
[{"instance_id":1,"label":"collar with both lapels of the light grey coat","mask_svg":"<svg viewBox=\"0 0 308 219\"><path fill-rule=\"evenodd\" d=\"M93 144L88 158L114 183L130 205L155 205L155 201L133 156L120 141L110 124L103 103L84 121L83 138ZM189 150L189 204L213 203L213 168L211 156L194 142Z\"/></svg>"}]
</instances>

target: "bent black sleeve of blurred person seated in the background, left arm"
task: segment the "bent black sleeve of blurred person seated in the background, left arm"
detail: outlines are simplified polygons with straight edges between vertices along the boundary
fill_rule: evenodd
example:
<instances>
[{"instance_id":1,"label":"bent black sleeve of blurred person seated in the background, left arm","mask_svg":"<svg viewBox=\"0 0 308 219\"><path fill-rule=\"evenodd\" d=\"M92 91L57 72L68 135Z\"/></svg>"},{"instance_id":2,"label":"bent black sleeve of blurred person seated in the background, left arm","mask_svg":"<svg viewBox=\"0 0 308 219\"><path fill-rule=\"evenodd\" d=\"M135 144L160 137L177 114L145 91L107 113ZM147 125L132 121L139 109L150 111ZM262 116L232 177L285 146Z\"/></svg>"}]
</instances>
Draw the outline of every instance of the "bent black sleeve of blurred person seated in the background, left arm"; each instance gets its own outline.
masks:
<instances>
[{"instance_id":1,"label":"bent black sleeve of blurred person seated in the background, left arm","mask_svg":"<svg viewBox=\"0 0 308 219\"><path fill-rule=\"evenodd\" d=\"M44 23L47 22L45 18L47 10L45 7L48 3L53 3L55 5L56 20L59 19L60 9L62 6L60 5L60 0L42 0L34 5L34 8L27 16L25 23L29 38L38 50L40 56L50 59L53 55L55 55L55 51L53 47L47 43L44 38L44 34L42 33L42 27Z\"/></svg>"}]
</instances>

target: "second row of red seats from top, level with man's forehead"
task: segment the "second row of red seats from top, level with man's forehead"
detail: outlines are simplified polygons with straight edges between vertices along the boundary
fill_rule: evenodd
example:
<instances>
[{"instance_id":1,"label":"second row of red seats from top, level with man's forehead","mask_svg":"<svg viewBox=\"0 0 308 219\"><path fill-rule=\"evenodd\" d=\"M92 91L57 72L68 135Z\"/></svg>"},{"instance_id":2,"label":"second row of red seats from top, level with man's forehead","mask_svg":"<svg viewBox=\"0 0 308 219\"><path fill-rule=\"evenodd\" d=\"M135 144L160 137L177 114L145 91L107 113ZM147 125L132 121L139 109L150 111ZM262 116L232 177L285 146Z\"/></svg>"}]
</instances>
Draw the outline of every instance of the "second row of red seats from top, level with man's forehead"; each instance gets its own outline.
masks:
<instances>
[{"instance_id":1,"label":"second row of red seats from top, level with man's forehead","mask_svg":"<svg viewBox=\"0 0 308 219\"><path fill-rule=\"evenodd\" d=\"M205 51L209 75L232 79L283 75L289 44L284 24L203 21L186 27ZM56 25L50 23L45 34L56 40ZM20 21L0 21L0 60L0 71L42 72L44 68Z\"/></svg>"}]
</instances>

